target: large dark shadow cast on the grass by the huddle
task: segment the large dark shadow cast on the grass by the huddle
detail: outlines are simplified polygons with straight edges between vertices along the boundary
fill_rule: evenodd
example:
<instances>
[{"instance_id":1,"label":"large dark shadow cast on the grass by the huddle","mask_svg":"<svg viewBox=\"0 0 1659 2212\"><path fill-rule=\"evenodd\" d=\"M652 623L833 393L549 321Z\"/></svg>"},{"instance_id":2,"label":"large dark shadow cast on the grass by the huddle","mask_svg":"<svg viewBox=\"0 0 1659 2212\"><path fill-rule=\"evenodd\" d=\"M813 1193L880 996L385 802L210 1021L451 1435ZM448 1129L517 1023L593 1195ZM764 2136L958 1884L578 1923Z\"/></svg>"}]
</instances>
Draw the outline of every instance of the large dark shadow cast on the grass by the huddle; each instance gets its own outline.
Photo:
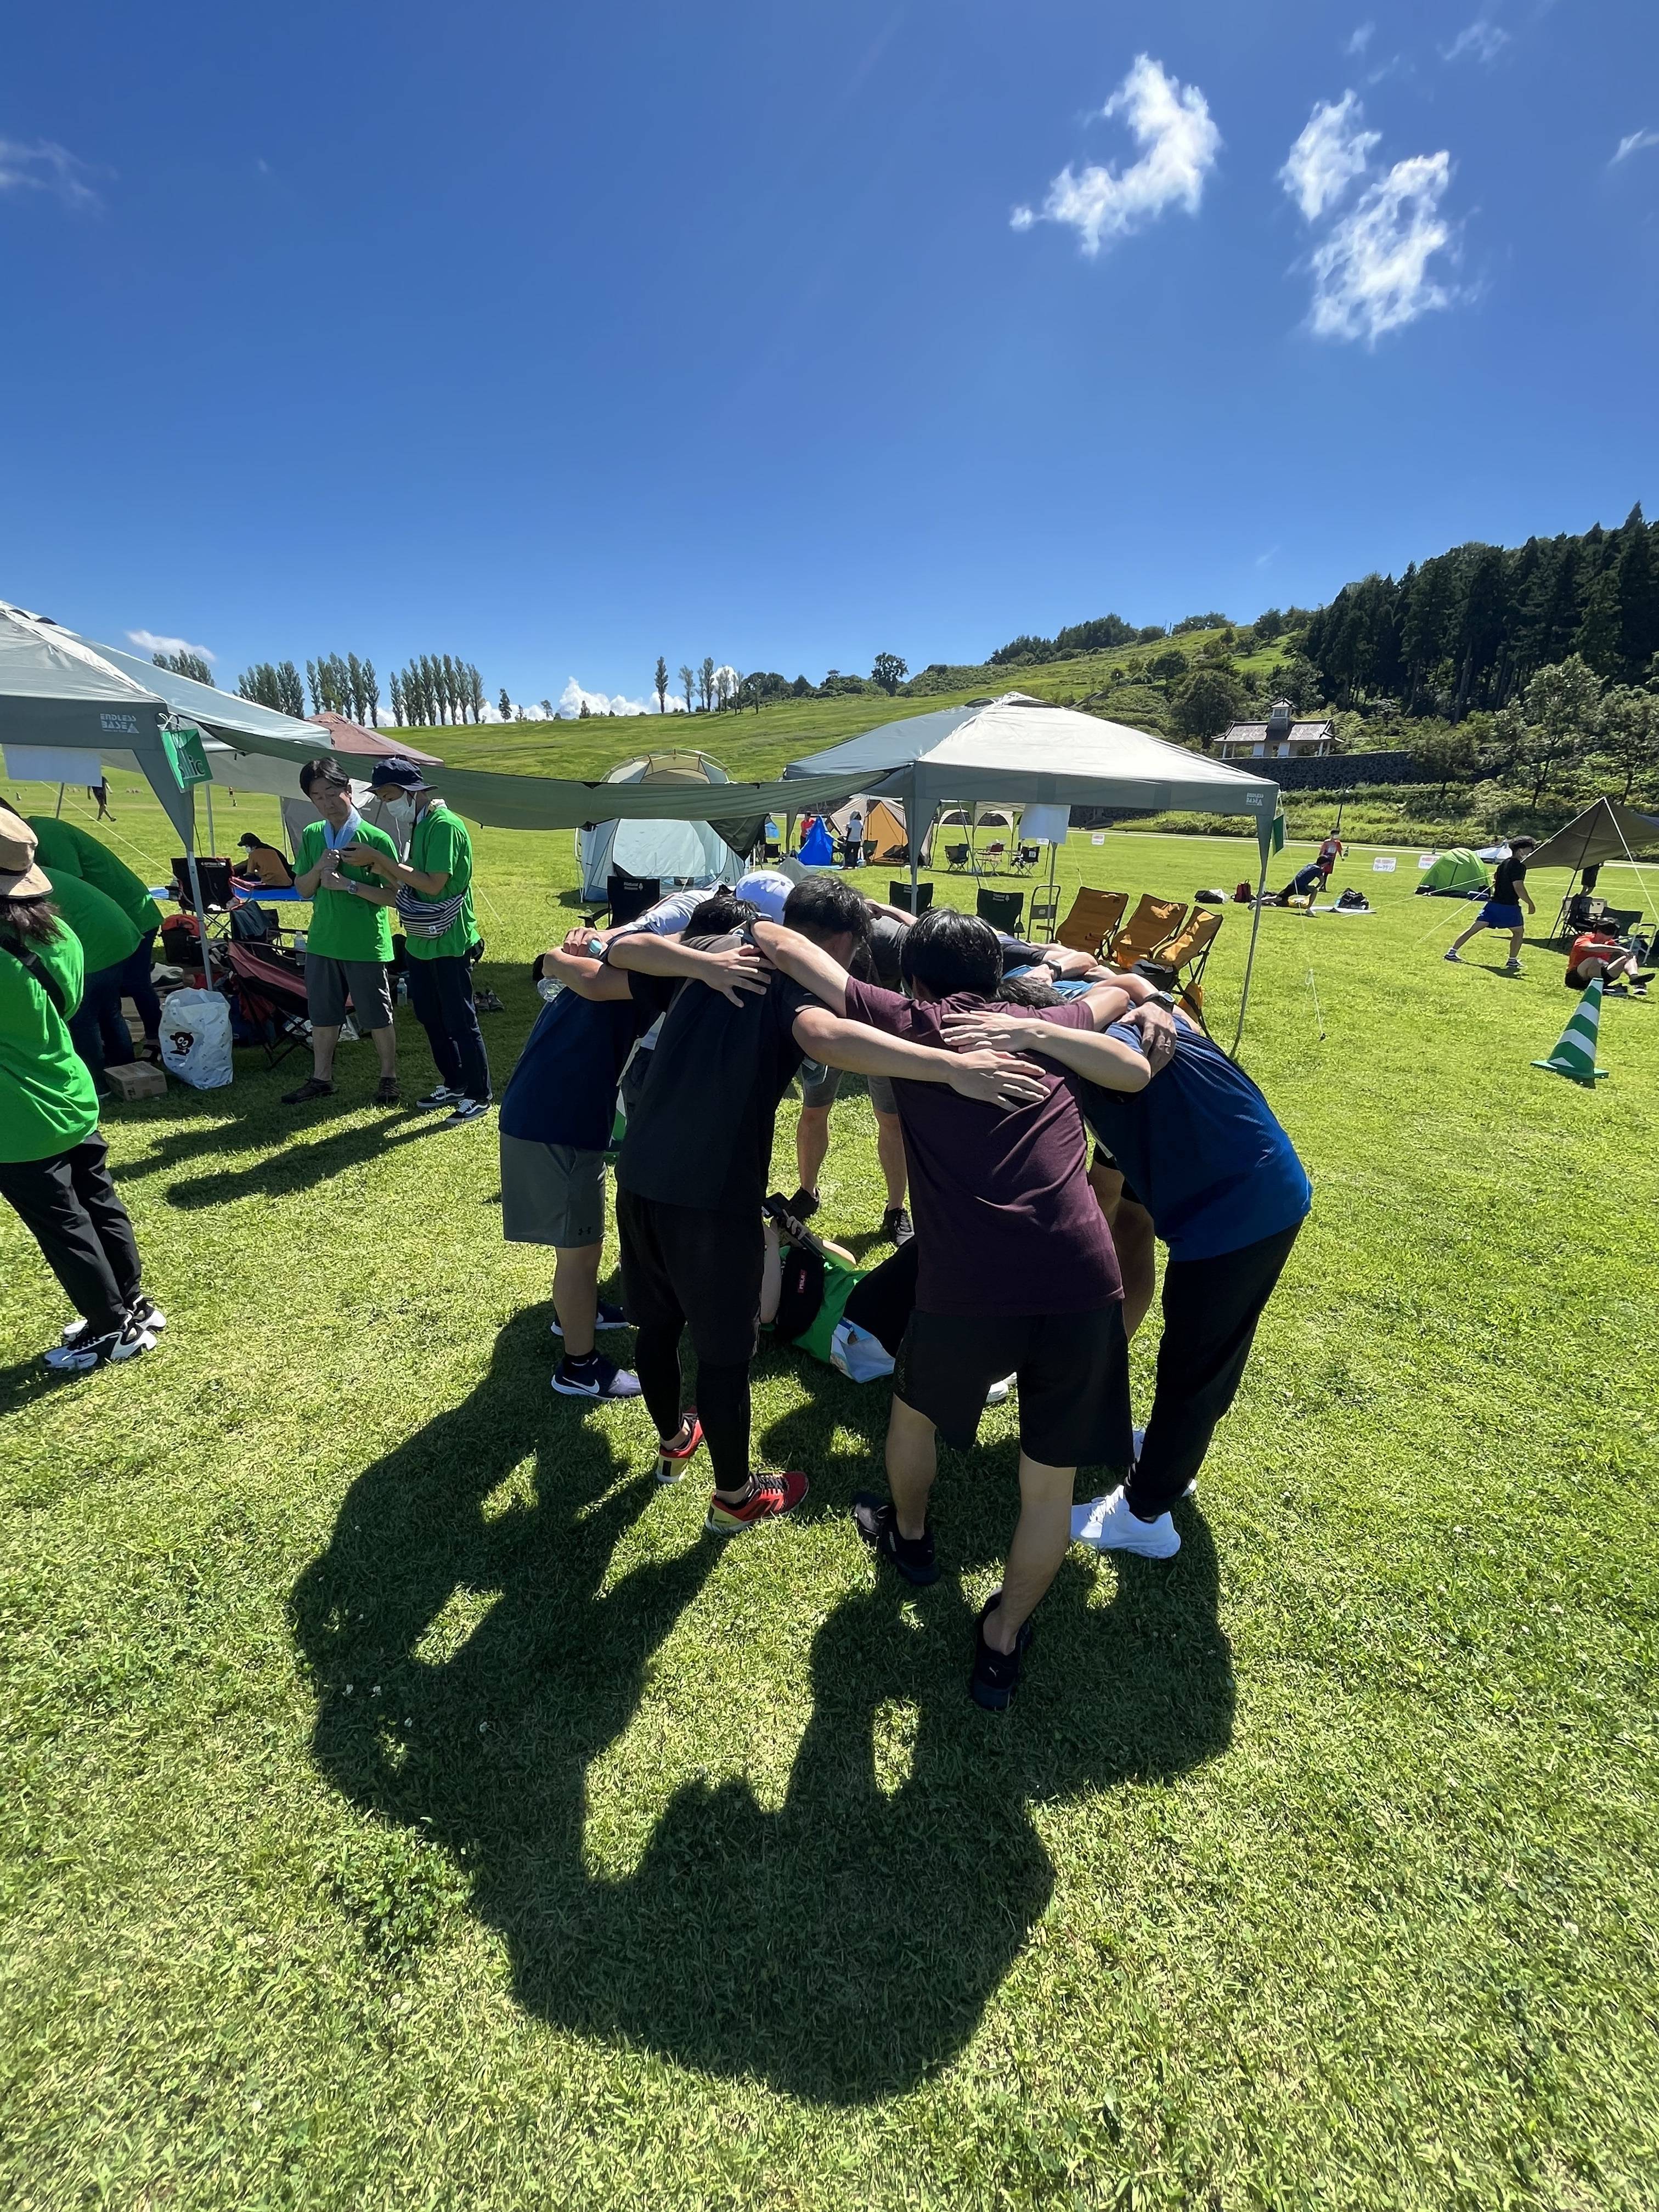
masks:
<instances>
[{"instance_id":1,"label":"large dark shadow cast on the grass by the huddle","mask_svg":"<svg viewBox=\"0 0 1659 2212\"><path fill-rule=\"evenodd\" d=\"M1228 1745L1208 1531L1186 1511L1179 1562L1128 1562L1108 1606L1088 1606L1093 1568L1071 1557L1022 1697L993 1719L967 1697L973 1613L958 1575L1006 1546L1013 1447L947 1455L947 1573L931 1590L872 1573L847 1528L852 1588L812 1641L812 1719L785 1803L688 1783L637 1871L595 1878L588 1767L628 1728L723 1546L695 1537L608 1579L619 1540L666 1506L648 1462L624 1464L597 1420L549 1394L546 1352L544 1310L502 1329L471 1398L352 1484L299 1579L321 1767L349 1803L467 1869L531 2013L823 2101L902 2090L964 2046L1048 1902L1031 1803L1175 1776ZM880 1464L887 1391L810 1374L818 1402L765 1429L757 1458L805 1467L807 1511L841 1517ZM856 1460L827 1455L836 1429L863 1440ZM524 1462L533 1484L487 1515ZM787 1531L759 1542L768 1573L787 1577ZM418 1644L456 1593L495 1601L431 1663ZM752 1694L765 1701L765 1674ZM874 1725L889 1699L918 1719L909 1776L885 1790Z\"/></svg>"}]
</instances>

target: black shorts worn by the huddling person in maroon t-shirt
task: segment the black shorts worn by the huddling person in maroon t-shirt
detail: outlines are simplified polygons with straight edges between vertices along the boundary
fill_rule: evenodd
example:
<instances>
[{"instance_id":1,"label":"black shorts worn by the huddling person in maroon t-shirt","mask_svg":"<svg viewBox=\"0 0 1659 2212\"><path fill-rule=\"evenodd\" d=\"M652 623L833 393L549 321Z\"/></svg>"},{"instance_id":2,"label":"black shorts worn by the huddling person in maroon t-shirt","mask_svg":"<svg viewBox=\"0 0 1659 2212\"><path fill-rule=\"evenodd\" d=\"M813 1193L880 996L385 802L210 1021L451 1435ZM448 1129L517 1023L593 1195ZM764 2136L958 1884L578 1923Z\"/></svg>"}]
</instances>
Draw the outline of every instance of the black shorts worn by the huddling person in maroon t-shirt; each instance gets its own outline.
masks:
<instances>
[{"instance_id":1,"label":"black shorts worn by the huddling person in maroon t-shirt","mask_svg":"<svg viewBox=\"0 0 1659 2212\"><path fill-rule=\"evenodd\" d=\"M984 1394L1020 1385L1020 1449L1044 1467L1121 1467L1135 1458L1124 1307L1093 1314L922 1314L909 1318L894 1396L947 1444L973 1442Z\"/></svg>"}]
</instances>

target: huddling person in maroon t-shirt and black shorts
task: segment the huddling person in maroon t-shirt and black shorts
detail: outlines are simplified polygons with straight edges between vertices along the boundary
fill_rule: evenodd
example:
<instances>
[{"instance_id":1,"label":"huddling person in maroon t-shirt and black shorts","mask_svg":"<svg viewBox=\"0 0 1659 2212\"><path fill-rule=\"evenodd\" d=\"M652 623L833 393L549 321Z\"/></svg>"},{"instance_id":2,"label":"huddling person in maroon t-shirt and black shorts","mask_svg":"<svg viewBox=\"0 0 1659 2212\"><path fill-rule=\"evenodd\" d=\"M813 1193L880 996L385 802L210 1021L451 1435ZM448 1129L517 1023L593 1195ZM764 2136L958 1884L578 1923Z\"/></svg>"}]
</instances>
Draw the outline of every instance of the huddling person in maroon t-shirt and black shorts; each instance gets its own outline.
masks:
<instances>
[{"instance_id":1,"label":"huddling person in maroon t-shirt and black shorts","mask_svg":"<svg viewBox=\"0 0 1659 2212\"><path fill-rule=\"evenodd\" d=\"M949 1011L984 1006L1002 984L1002 947L989 922L936 907L905 931L905 995L856 982L821 947L757 922L754 942L832 1013L911 1044L940 1044ZM1130 1013L1102 984L1044 1020L1091 1035L1091 1079L1139 1091L1150 1064L1117 1037L1095 1035ZM1172 1024L1155 1009L1152 1035ZM1168 1053L1164 1053L1168 1057ZM1159 1060L1161 1064L1161 1060ZM1042 1064L1037 1064L1042 1066ZM1020 1524L1002 1588L980 1613L973 1699L1000 1712L1020 1681L1031 1613L1071 1542L1079 1464L1128 1469L1128 1343L1113 1239L1088 1186L1088 1144L1064 1075L1042 1066L1044 1097L1018 1110L984 1108L940 1084L898 1079L916 1214L916 1312L894 1371L887 1427L891 1500L854 1500L858 1533L907 1582L936 1582L927 1498L938 1436L967 1449L984 1394L1000 1376L1020 1385Z\"/></svg>"}]
</instances>

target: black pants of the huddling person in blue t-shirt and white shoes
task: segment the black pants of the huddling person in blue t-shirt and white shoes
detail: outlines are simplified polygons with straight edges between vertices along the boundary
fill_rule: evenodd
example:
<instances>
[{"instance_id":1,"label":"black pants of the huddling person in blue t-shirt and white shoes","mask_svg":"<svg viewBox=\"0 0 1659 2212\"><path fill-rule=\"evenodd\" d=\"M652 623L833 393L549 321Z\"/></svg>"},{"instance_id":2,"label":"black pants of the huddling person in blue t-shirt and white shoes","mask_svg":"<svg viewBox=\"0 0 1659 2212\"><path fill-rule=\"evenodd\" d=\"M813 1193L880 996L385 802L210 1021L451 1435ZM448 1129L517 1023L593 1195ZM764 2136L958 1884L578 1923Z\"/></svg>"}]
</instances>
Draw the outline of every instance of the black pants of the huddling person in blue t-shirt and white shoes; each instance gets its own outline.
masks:
<instances>
[{"instance_id":1,"label":"black pants of the huddling person in blue t-shirt and white shoes","mask_svg":"<svg viewBox=\"0 0 1659 2212\"><path fill-rule=\"evenodd\" d=\"M1168 1513L1203 1467L1217 1422L1239 1396L1256 1323L1285 1270L1294 1230L1217 1259L1172 1259L1164 1270L1164 1340L1146 1442L1128 1480L1130 1513Z\"/></svg>"}]
</instances>

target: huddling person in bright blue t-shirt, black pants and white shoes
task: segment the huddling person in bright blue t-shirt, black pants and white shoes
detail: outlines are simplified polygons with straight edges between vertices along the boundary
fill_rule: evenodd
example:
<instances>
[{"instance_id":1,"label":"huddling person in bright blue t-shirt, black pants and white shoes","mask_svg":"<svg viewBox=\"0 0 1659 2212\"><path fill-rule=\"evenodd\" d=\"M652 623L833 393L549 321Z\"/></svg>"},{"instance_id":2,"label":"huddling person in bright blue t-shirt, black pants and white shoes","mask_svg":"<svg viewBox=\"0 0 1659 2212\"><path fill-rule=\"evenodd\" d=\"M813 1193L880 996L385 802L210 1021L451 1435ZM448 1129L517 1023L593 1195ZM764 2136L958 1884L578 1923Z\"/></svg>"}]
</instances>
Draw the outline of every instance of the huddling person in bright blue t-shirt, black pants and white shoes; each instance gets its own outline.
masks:
<instances>
[{"instance_id":1,"label":"huddling person in bright blue t-shirt, black pants and white shoes","mask_svg":"<svg viewBox=\"0 0 1659 2212\"><path fill-rule=\"evenodd\" d=\"M1115 978L1155 998L1139 975ZM1040 984L1004 984L1022 1004L1051 1004ZM1040 1018L984 1013L947 1022L953 1044L1075 1057ZM1139 1031L1106 1031L1137 1044ZM1073 1513L1073 1537L1097 1551L1170 1559L1181 1548L1170 1506L1194 1482L1217 1422L1239 1394L1263 1307L1312 1206L1312 1183L1285 1130L1243 1068L1175 1009L1175 1055L1141 1091L1108 1091L1071 1068L1095 1133L1095 1194L1124 1276L1124 1327L1152 1298L1152 1239L1168 1245L1164 1340L1146 1438L1119 1484Z\"/></svg>"}]
</instances>

